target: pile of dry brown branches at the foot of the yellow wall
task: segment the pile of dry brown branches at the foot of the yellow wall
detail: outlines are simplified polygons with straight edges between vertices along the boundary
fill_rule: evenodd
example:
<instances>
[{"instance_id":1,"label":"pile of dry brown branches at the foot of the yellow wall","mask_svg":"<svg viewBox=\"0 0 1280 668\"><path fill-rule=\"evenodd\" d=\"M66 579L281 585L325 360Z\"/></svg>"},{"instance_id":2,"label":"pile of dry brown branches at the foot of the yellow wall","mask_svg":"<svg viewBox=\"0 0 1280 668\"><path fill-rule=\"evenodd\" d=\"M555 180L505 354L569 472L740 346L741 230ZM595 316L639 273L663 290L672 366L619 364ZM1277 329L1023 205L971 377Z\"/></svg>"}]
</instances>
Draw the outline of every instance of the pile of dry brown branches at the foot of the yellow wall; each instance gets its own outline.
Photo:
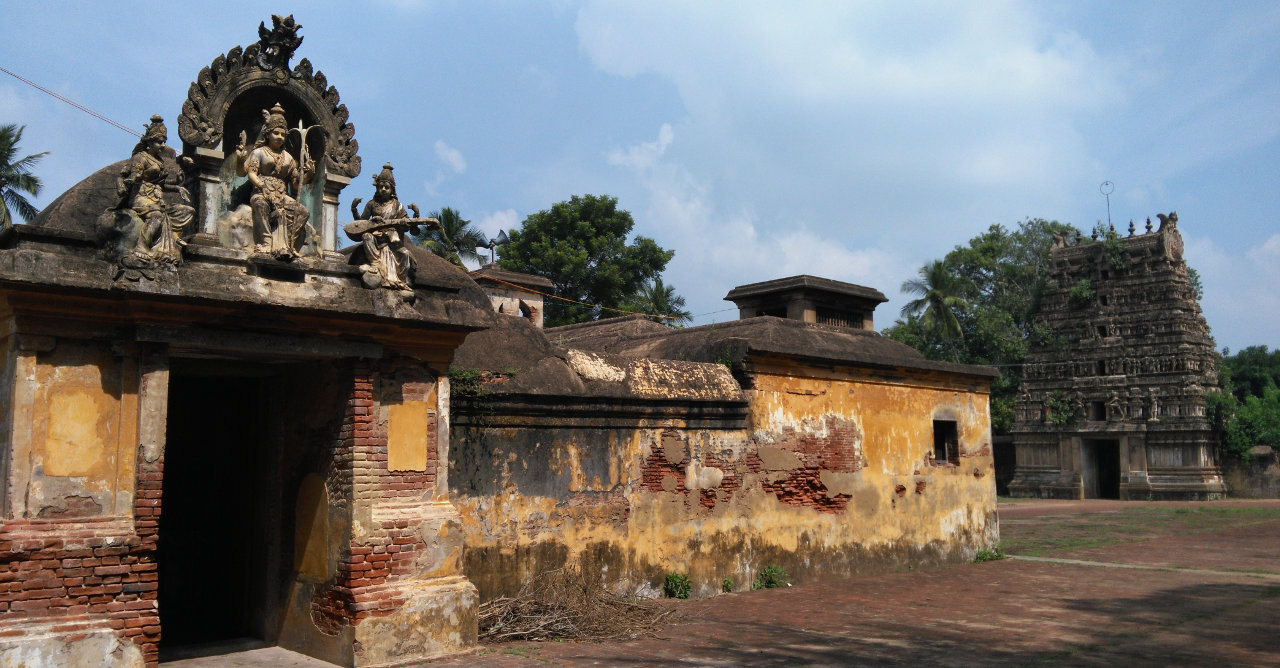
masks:
<instances>
[{"instance_id":1,"label":"pile of dry brown branches at the foot of the yellow wall","mask_svg":"<svg viewBox=\"0 0 1280 668\"><path fill-rule=\"evenodd\" d=\"M576 568L548 571L480 605L480 640L611 640L655 633L673 609L655 600L618 595Z\"/></svg>"}]
</instances>

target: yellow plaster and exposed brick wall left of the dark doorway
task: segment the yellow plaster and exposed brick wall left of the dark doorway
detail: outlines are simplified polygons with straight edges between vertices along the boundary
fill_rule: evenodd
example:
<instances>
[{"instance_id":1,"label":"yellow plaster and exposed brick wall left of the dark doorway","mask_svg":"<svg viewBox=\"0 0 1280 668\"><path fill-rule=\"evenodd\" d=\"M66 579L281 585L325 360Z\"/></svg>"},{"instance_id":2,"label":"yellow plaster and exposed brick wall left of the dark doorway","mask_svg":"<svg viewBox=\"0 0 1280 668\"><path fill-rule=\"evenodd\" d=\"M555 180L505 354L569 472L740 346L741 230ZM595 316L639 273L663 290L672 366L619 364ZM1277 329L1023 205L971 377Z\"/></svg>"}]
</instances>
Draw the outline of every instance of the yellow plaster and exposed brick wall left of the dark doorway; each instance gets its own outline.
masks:
<instances>
[{"instance_id":1,"label":"yellow plaster and exposed brick wall left of the dark doorway","mask_svg":"<svg viewBox=\"0 0 1280 668\"><path fill-rule=\"evenodd\" d=\"M0 664L154 662L157 499L136 470L147 370L101 342L5 343Z\"/></svg>"}]
</instances>

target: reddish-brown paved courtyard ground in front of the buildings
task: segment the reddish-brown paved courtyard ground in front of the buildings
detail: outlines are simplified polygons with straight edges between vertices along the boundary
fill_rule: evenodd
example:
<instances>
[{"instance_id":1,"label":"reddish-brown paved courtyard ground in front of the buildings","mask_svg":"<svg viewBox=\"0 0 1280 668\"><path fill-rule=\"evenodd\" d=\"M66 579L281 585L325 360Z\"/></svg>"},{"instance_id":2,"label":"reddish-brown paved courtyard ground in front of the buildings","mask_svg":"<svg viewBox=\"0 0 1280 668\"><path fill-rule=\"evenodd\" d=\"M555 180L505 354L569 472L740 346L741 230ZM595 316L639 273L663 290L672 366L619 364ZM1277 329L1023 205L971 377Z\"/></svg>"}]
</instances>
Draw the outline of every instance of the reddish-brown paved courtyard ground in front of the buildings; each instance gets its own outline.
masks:
<instances>
[{"instance_id":1,"label":"reddish-brown paved courtyard ground in front of the buildings","mask_svg":"<svg viewBox=\"0 0 1280 668\"><path fill-rule=\"evenodd\" d=\"M658 637L430 665L1280 664L1280 500L1002 500L1000 520L1010 559L671 601ZM168 665L253 664L328 665L278 649Z\"/></svg>"}]
</instances>

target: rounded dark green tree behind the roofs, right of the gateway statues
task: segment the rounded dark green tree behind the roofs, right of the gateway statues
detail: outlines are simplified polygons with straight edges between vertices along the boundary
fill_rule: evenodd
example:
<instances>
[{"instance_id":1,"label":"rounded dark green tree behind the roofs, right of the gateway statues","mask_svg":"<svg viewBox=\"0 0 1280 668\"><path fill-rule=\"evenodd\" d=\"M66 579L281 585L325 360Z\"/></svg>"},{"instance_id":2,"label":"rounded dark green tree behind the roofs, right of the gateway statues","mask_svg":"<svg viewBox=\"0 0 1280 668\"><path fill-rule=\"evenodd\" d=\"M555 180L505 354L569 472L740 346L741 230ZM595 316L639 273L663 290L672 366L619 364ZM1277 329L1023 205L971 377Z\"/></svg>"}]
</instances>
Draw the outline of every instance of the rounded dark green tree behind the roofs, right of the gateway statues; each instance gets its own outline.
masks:
<instances>
[{"instance_id":1,"label":"rounded dark green tree behind the roofs, right of the gateway statues","mask_svg":"<svg viewBox=\"0 0 1280 668\"><path fill-rule=\"evenodd\" d=\"M596 320L608 314L599 306L625 308L675 255L645 237L628 244L635 221L617 205L616 197L573 196L508 233L498 266L545 276L558 297L585 302L548 301L547 326Z\"/></svg>"}]
</instances>

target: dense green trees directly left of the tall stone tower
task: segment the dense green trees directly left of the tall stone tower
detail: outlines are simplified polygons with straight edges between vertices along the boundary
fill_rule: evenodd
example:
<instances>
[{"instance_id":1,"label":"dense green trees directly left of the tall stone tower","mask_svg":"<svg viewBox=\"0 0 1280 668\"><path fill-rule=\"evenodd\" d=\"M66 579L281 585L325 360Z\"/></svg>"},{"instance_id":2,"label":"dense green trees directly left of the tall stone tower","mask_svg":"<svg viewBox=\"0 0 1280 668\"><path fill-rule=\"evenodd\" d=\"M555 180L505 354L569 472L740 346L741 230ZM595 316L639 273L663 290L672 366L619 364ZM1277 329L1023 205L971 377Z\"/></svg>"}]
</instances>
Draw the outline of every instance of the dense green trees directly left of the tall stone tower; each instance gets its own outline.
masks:
<instances>
[{"instance_id":1,"label":"dense green trees directly left of the tall stone tower","mask_svg":"<svg viewBox=\"0 0 1280 668\"><path fill-rule=\"evenodd\" d=\"M941 261L920 269L922 287L945 287L938 293L955 297L950 302L934 299L933 303L948 305L959 324L959 335L954 330L948 335L947 328L940 326L946 315L938 306L934 306L938 316L932 321L927 319L928 306L920 311L904 308L902 320L884 330L886 337L931 360L1000 369L1001 375L992 384L991 420L1001 434L1012 426L1014 398L1028 346L1033 337L1037 340L1047 337L1034 326L1033 316L1047 280L1053 233L1078 234L1070 225L1042 219L1024 220L1015 230L992 225L969 239L968 246L957 246ZM908 284L904 290L910 290ZM915 290L913 294L922 293Z\"/></svg>"}]
</instances>

